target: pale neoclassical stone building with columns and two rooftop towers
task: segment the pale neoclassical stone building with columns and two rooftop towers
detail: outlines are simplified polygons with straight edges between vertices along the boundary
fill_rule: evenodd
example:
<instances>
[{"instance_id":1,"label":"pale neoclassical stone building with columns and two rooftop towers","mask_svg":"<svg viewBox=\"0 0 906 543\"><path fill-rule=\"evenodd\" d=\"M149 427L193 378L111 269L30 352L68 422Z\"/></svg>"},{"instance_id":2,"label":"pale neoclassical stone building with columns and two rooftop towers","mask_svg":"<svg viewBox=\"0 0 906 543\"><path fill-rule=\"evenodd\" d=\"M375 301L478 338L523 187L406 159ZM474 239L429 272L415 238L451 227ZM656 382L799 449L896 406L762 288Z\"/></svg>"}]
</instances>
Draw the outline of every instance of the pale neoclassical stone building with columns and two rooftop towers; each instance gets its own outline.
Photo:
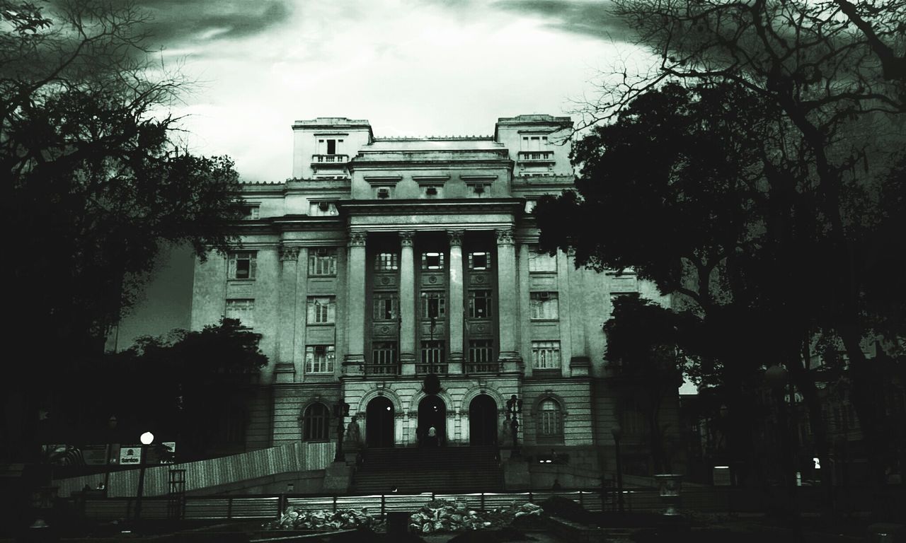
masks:
<instances>
[{"instance_id":1,"label":"pale neoclassical stone building with columns and two rooftop towers","mask_svg":"<svg viewBox=\"0 0 906 543\"><path fill-rule=\"evenodd\" d=\"M608 375L602 324L615 296L660 296L536 250L535 200L573 186L572 126L520 115L487 137L377 138L366 120L296 121L293 178L246 185L241 246L194 273L193 329L226 315L264 336L247 445L333 440L338 402L371 447L432 427L442 446L504 445L516 395L526 451L605 470L619 424L641 470L644 424Z\"/></svg>"}]
</instances>

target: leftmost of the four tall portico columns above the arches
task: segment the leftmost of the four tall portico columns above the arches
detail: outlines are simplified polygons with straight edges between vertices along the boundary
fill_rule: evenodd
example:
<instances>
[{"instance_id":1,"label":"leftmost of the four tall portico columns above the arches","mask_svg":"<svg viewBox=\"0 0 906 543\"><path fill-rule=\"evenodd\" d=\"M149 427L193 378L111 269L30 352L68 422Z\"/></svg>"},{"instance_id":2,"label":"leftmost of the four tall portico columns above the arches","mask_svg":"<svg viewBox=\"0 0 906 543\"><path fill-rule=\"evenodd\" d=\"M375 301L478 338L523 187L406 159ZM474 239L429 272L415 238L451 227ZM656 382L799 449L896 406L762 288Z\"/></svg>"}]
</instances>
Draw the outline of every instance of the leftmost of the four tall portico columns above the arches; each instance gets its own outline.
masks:
<instances>
[{"instance_id":1,"label":"leftmost of the four tall portico columns above the arches","mask_svg":"<svg viewBox=\"0 0 906 543\"><path fill-rule=\"evenodd\" d=\"M365 241L367 232L349 233L349 261L346 277L346 357L343 360L343 374L361 376L365 364Z\"/></svg>"}]
</instances>

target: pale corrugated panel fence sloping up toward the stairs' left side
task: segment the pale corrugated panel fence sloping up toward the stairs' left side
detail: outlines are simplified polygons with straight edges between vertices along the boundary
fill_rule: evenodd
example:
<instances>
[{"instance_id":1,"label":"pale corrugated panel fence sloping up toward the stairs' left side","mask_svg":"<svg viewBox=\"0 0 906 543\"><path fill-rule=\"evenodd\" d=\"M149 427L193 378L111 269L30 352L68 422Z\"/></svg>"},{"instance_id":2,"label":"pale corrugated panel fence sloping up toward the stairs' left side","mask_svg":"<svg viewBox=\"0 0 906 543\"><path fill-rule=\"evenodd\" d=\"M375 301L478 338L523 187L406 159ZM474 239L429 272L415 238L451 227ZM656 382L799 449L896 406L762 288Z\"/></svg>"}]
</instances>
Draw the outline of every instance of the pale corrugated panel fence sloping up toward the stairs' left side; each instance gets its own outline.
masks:
<instances>
[{"instance_id":1,"label":"pale corrugated panel fence sloping up toward the stairs' left side","mask_svg":"<svg viewBox=\"0 0 906 543\"><path fill-rule=\"evenodd\" d=\"M335 443L288 443L211 460L148 467L145 469L144 495L167 494L170 470L186 470L186 491L251 481L279 473L323 470L333 462L335 446ZM105 475L94 474L58 479L53 481L53 486L59 487L59 496L66 497L74 491L81 491L85 485L94 488L104 477ZM138 469L110 472L106 477L109 498L136 495L139 485Z\"/></svg>"}]
</instances>

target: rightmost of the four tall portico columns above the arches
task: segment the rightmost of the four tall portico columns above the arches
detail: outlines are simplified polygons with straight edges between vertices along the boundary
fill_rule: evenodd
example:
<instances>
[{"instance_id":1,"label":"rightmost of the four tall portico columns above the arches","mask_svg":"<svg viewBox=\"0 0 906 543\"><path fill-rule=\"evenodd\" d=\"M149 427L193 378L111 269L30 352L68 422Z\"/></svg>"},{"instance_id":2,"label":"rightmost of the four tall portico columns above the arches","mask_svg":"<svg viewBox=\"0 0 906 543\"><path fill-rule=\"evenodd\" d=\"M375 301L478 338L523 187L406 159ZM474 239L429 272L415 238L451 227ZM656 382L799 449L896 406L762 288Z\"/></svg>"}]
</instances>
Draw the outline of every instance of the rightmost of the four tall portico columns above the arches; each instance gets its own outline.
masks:
<instances>
[{"instance_id":1,"label":"rightmost of the four tall portico columns above the arches","mask_svg":"<svg viewBox=\"0 0 906 543\"><path fill-rule=\"evenodd\" d=\"M500 357L504 371L516 372L521 369L522 359L516 346L516 246L513 244L513 229L497 230L497 323L500 329Z\"/></svg>"}]
</instances>

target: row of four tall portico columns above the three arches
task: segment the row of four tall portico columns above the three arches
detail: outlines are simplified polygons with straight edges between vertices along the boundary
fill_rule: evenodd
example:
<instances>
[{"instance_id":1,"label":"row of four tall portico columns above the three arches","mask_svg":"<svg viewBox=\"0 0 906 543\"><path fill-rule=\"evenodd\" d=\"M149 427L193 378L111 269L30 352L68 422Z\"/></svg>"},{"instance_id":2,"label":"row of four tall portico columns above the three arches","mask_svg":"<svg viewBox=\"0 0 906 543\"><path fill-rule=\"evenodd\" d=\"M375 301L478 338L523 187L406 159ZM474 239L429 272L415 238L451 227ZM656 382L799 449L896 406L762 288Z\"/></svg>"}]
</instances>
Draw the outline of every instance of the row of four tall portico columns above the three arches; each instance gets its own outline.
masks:
<instances>
[{"instance_id":1,"label":"row of four tall portico columns above the three arches","mask_svg":"<svg viewBox=\"0 0 906 543\"><path fill-rule=\"evenodd\" d=\"M462 371L464 270L462 258L462 230L448 231L449 239L449 320L450 358L448 372ZM365 329L367 326L365 300L367 299L365 273L369 269L366 259L368 234L351 231L349 236L349 261L347 266L348 332L346 357L343 361L345 373L361 373L365 363ZM416 346L416 331L419 319L415 299L415 254L414 232L400 232L400 369L402 375L415 375L415 363L419 357ZM516 348L517 318L517 273L516 247L512 229L496 230L497 248L497 308L500 339L498 359L505 364L505 371L515 371L520 362Z\"/></svg>"}]
</instances>

